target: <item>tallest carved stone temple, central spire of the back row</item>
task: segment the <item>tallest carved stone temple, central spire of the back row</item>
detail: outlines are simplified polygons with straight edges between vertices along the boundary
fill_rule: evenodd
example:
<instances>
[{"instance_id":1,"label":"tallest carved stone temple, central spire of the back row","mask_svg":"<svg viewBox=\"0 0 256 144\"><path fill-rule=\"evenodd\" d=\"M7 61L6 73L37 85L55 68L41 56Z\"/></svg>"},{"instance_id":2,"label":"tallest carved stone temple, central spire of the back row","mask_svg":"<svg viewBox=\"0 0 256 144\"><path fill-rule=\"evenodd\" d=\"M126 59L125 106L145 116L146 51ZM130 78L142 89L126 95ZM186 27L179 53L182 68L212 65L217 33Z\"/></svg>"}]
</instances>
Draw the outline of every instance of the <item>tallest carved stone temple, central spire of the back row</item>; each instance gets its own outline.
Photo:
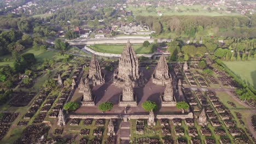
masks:
<instances>
[{"instance_id":1,"label":"tallest carved stone temple, central spire of the back row","mask_svg":"<svg viewBox=\"0 0 256 144\"><path fill-rule=\"evenodd\" d=\"M131 47L130 40L127 41L126 47L119 58L118 71L115 71L114 73L115 85L123 87L124 82L129 79L127 75L130 75L133 86L136 87L144 85L143 76L139 73L138 58Z\"/></svg>"}]
</instances>

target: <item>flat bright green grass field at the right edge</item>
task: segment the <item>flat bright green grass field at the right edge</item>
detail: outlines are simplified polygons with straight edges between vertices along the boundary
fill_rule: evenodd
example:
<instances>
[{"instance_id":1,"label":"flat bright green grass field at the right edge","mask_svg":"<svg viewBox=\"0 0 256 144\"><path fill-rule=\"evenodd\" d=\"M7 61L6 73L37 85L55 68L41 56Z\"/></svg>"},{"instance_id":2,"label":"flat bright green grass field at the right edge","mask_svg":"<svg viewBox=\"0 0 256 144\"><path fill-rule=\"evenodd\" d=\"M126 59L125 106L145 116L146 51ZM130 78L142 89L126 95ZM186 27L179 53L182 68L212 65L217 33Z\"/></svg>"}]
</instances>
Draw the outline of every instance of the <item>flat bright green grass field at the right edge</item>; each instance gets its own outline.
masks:
<instances>
[{"instance_id":1,"label":"flat bright green grass field at the right edge","mask_svg":"<svg viewBox=\"0 0 256 144\"><path fill-rule=\"evenodd\" d=\"M224 61L223 63L237 76L240 76L241 79L250 83L256 89L256 61Z\"/></svg>"}]
</instances>

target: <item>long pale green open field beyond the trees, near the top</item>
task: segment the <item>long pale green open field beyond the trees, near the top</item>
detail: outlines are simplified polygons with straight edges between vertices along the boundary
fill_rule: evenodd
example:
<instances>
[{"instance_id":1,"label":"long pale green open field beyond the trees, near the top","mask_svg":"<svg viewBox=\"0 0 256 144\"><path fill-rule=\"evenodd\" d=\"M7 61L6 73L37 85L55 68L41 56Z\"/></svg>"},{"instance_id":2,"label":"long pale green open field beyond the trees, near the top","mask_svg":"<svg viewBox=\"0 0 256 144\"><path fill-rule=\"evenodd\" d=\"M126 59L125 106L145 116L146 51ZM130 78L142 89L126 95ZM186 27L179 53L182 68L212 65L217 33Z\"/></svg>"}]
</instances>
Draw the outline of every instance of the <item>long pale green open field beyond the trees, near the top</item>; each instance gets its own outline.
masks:
<instances>
[{"instance_id":1,"label":"long pale green open field beyond the trees, near the top","mask_svg":"<svg viewBox=\"0 0 256 144\"><path fill-rule=\"evenodd\" d=\"M208 12L207 8L210 7L212 12ZM226 8L222 7L223 10L218 10L217 7L212 6L201 6L201 5L190 5L184 6L179 5L177 8L179 10L175 10L176 7L127 7L127 10L131 10L133 15L142 15L142 16L158 16L158 10L162 12L162 15L205 15L205 16L234 16L234 15L241 15L238 13L228 13L226 12Z\"/></svg>"}]
</instances>

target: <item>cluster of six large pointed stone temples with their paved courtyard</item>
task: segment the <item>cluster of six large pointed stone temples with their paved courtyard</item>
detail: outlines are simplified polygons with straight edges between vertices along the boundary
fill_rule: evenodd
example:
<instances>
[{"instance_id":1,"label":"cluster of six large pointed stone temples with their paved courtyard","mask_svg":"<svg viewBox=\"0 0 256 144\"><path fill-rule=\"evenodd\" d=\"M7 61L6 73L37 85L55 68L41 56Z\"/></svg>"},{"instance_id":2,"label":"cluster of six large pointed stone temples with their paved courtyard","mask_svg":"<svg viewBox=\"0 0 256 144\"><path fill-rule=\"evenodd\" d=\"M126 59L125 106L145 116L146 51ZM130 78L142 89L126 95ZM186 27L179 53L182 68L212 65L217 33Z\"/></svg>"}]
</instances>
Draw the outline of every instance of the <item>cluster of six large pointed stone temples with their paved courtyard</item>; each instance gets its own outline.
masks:
<instances>
[{"instance_id":1,"label":"cluster of six large pointed stone temples with their paved courtyard","mask_svg":"<svg viewBox=\"0 0 256 144\"><path fill-rule=\"evenodd\" d=\"M131 107L127 112L143 112L141 104L146 100L154 101L165 111L178 111L175 108L178 89L174 84L178 82L172 81L163 55L155 68L147 70L146 67L139 67L135 50L128 40L119 58L118 67L113 72L102 69L95 55L88 67L89 71L78 82L77 91L79 95L82 94L77 99L82 104L81 109L86 107L85 111L97 111L95 107L99 104L111 101L116 112L123 111L125 107ZM174 80L178 79L174 77ZM83 113L84 110L80 112Z\"/></svg>"}]
</instances>

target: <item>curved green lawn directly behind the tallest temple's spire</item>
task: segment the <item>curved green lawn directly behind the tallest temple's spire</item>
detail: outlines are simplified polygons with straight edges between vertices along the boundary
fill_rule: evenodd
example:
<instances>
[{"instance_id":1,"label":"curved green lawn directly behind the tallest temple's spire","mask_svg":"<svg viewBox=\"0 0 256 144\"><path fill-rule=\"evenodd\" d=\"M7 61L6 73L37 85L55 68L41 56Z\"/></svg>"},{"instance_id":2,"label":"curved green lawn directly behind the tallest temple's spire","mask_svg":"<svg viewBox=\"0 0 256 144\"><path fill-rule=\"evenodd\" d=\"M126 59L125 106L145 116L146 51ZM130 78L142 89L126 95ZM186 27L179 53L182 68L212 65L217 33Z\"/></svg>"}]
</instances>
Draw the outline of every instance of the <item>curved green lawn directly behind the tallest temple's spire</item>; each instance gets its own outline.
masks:
<instances>
[{"instance_id":1,"label":"curved green lawn directly behind the tallest temple's spire","mask_svg":"<svg viewBox=\"0 0 256 144\"><path fill-rule=\"evenodd\" d=\"M122 53L125 45L90 45L88 46L92 50L104 53ZM150 53L150 49L148 47L144 47L142 45L132 45L133 49L137 54Z\"/></svg>"}]
</instances>

